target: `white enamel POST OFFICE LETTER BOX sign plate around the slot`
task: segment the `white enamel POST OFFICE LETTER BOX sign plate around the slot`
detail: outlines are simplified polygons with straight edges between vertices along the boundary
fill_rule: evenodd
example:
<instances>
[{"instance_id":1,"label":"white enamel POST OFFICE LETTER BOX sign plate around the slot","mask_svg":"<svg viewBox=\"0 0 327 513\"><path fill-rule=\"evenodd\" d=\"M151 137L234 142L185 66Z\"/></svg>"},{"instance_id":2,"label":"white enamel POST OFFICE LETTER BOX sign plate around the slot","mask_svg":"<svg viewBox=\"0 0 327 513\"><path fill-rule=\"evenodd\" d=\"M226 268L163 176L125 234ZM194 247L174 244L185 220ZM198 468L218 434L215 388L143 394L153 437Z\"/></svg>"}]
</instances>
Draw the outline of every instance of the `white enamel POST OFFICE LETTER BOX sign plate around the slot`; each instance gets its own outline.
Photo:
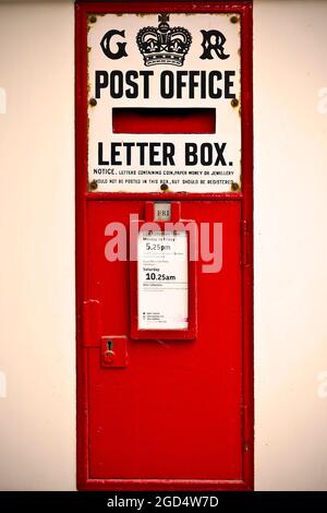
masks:
<instances>
[{"instance_id":1,"label":"white enamel POST OFFICE LETTER BOX sign plate around the slot","mask_svg":"<svg viewBox=\"0 0 327 513\"><path fill-rule=\"evenodd\" d=\"M232 16L126 13L88 21L90 190L241 187L240 20ZM114 133L112 109L135 107L211 108L215 133Z\"/></svg>"}]
</instances>

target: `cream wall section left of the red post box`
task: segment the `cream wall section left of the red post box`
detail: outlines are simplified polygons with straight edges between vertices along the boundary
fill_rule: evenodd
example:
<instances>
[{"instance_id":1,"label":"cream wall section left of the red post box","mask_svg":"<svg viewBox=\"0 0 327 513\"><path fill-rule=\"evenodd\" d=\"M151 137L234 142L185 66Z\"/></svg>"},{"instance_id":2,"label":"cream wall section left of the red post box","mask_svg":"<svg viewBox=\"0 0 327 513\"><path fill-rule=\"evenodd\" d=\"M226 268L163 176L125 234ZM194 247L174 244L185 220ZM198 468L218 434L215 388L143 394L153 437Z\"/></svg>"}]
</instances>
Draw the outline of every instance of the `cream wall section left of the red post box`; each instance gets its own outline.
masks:
<instances>
[{"instance_id":1,"label":"cream wall section left of the red post box","mask_svg":"<svg viewBox=\"0 0 327 513\"><path fill-rule=\"evenodd\" d=\"M74 16L0 3L1 489L75 486Z\"/></svg>"}]
</instances>

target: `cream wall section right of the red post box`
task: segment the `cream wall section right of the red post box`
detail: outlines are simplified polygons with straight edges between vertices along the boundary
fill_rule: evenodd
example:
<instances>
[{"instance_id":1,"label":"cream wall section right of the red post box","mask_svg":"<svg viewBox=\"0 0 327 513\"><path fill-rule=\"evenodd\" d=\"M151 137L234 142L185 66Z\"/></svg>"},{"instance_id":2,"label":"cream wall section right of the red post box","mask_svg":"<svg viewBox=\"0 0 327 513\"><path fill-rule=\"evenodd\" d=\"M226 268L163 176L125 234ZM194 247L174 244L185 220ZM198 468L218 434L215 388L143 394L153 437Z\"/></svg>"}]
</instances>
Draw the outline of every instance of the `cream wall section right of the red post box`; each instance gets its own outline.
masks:
<instances>
[{"instance_id":1,"label":"cream wall section right of the red post box","mask_svg":"<svg viewBox=\"0 0 327 513\"><path fill-rule=\"evenodd\" d=\"M327 489L327 2L254 7L256 487Z\"/></svg>"}]
</instances>

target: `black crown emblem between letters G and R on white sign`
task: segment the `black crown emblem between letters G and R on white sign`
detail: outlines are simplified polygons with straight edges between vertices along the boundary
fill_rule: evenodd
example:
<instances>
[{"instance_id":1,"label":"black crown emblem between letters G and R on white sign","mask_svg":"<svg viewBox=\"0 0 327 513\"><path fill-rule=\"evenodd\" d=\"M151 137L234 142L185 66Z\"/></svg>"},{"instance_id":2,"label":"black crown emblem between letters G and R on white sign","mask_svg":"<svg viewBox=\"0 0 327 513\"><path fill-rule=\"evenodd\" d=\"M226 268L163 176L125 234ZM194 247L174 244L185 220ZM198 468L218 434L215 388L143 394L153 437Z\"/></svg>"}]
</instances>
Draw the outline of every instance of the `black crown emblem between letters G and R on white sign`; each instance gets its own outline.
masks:
<instances>
[{"instance_id":1,"label":"black crown emblem between letters G and R on white sign","mask_svg":"<svg viewBox=\"0 0 327 513\"><path fill-rule=\"evenodd\" d=\"M192 36L186 28L169 26L169 14L158 15L158 27L146 26L138 31L136 43L145 65L183 65Z\"/></svg>"}]
</instances>

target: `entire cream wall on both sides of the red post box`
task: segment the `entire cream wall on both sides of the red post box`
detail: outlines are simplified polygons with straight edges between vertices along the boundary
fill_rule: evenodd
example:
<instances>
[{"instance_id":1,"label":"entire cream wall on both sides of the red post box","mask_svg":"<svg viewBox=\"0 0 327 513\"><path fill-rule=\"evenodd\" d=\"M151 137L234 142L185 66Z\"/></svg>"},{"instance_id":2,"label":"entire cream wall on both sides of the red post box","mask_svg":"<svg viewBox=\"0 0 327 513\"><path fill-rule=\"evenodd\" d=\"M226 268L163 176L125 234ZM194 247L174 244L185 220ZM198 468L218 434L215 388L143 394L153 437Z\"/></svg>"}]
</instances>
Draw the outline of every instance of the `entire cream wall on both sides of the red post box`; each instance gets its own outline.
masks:
<instances>
[{"instance_id":1,"label":"entire cream wall on both sides of the red post box","mask_svg":"<svg viewBox=\"0 0 327 513\"><path fill-rule=\"evenodd\" d=\"M254 2L257 489L327 489L326 23ZM73 44L72 1L0 2L2 490L75 487Z\"/></svg>"}]
</instances>

